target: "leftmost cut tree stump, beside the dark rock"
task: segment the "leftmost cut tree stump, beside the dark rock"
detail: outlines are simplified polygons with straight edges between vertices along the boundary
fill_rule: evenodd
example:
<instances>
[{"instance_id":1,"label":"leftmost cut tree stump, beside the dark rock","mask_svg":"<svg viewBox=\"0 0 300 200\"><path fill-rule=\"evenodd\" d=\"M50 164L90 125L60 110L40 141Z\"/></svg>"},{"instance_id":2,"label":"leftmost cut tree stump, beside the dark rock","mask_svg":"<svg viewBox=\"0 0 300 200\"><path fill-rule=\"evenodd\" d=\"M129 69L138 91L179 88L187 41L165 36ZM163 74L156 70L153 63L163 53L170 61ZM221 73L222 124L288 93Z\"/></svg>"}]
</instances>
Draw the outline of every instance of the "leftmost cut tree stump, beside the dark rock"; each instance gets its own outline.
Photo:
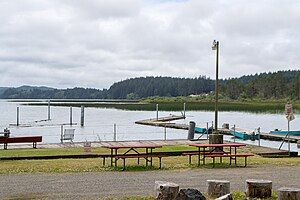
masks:
<instances>
[{"instance_id":1,"label":"leftmost cut tree stump, beside the dark rock","mask_svg":"<svg viewBox=\"0 0 300 200\"><path fill-rule=\"evenodd\" d=\"M178 194L179 185L165 181L155 181L157 200L173 200Z\"/></svg>"}]
</instances>

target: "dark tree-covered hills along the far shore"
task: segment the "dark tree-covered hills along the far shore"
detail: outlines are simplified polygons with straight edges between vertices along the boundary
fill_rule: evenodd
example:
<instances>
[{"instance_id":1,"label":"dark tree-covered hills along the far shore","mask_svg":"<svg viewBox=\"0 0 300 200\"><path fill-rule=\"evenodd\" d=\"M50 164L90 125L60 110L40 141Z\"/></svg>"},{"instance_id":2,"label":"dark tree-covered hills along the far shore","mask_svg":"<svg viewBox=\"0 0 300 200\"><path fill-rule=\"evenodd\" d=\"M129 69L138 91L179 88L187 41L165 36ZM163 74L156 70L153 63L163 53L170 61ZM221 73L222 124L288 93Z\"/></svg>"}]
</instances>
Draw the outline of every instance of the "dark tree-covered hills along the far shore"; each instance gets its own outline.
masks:
<instances>
[{"instance_id":1,"label":"dark tree-covered hills along the far shore","mask_svg":"<svg viewBox=\"0 0 300 200\"><path fill-rule=\"evenodd\" d=\"M229 99L300 99L300 70L261 73L221 80L220 93ZM114 83L109 89L21 86L0 87L2 99L140 99L151 96L188 96L214 91L206 77L138 77Z\"/></svg>"}]
</instances>

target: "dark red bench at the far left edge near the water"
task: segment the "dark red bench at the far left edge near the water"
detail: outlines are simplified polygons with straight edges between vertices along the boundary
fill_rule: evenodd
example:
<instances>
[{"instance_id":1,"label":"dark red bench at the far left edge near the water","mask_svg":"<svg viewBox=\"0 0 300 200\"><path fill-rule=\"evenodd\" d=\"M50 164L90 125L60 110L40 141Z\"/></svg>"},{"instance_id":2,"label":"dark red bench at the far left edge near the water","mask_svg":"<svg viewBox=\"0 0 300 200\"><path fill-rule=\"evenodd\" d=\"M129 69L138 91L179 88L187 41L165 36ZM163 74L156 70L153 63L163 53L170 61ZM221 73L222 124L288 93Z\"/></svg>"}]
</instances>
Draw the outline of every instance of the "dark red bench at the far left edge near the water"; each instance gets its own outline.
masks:
<instances>
[{"instance_id":1,"label":"dark red bench at the far left edge near the water","mask_svg":"<svg viewBox=\"0 0 300 200\"><path fill-rule=\"evenodd\" d=\"M31 143L32 147L36 149L36 143L42 142L42 136L27 136L27 137L1 137L0 144L4 144L4 149L7 149L9 143Z\"/></svg>"}]
</instances>

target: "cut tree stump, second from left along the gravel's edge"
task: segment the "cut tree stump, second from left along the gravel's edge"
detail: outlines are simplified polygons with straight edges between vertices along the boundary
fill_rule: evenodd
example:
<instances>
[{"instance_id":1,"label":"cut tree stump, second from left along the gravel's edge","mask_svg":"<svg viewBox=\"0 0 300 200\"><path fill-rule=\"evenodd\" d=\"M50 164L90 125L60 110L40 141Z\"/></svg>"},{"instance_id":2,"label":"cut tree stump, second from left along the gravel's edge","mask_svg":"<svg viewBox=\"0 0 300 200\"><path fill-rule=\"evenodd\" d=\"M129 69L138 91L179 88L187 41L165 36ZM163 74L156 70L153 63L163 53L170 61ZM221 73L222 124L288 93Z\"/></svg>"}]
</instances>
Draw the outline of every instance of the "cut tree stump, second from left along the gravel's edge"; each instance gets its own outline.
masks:
<instances>
[{"instance_id":1,"label":"cut tree stump, second from left along the gravel's edge","mask_svg":"<svg viewBox=\"0 0 300 200\"><path fill-rule=\"evenodd\" d=\"M210 197L218 198L230 193L230 182L226 180L207 180L207 193Z\"/></svg>"}]
</instances>

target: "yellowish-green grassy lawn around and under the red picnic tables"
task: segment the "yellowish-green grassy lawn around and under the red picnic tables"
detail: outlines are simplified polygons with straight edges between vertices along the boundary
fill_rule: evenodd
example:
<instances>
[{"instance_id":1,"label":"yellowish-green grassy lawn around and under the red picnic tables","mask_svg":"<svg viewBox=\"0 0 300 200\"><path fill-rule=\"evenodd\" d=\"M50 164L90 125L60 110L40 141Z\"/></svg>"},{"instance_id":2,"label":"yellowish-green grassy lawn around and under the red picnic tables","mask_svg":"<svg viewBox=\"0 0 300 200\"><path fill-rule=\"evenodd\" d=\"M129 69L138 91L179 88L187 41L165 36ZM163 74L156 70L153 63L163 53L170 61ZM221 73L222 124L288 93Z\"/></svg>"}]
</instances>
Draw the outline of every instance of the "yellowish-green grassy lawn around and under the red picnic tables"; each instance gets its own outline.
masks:
<instances>
[{"instance_id":1,"label":"yellowish-green grassy lawn around and under the red picnic tables","mask_svg":"<svg viewBox=\"0 0 300 200\"><path fill-rule=\"evenodd\" d=\"M247 146L241 148L238 152L254 152L255 147ZM180 151L180 150L196 150L188 146L165 146L157 151ZM56 149L14 149L1 150L0 157L16 157L16 156L45 156L45 155L72 155L83 154L82 148L56 148ZM92 153L109 154L110 151L105 148L93 148ZM216 168L234 167L229 166L228 158L223 159L223 164L216 164ZM216 159L218 161L218 159ZM206 165L200 168L212 168L212 160L207 159ZM244 159L238 159L238 164L243 165ZM118 162L119 167L102 166L102 158L87 159L53 159L53 160L14 160L0 161L0 173L62 173L62 172L100 172L121 170L122 160ZM109 164L109 160L106 162ZM137 165L136 159L127 159L126 166L129 171L140 170L157 170L159 163L157 158L153 158L153 167L145 167L144 161L141 159L140 165ZM248 158L248 166L255 167L258 165L276 165L276 166L300 166L298 158L264 158L258 155ZM164 170L180 170L188 168L198 168L197 156L193 156L192 165L188 164L188 156L176 156L162 158L162 167Z\"/></svg>"}]
</instances>

